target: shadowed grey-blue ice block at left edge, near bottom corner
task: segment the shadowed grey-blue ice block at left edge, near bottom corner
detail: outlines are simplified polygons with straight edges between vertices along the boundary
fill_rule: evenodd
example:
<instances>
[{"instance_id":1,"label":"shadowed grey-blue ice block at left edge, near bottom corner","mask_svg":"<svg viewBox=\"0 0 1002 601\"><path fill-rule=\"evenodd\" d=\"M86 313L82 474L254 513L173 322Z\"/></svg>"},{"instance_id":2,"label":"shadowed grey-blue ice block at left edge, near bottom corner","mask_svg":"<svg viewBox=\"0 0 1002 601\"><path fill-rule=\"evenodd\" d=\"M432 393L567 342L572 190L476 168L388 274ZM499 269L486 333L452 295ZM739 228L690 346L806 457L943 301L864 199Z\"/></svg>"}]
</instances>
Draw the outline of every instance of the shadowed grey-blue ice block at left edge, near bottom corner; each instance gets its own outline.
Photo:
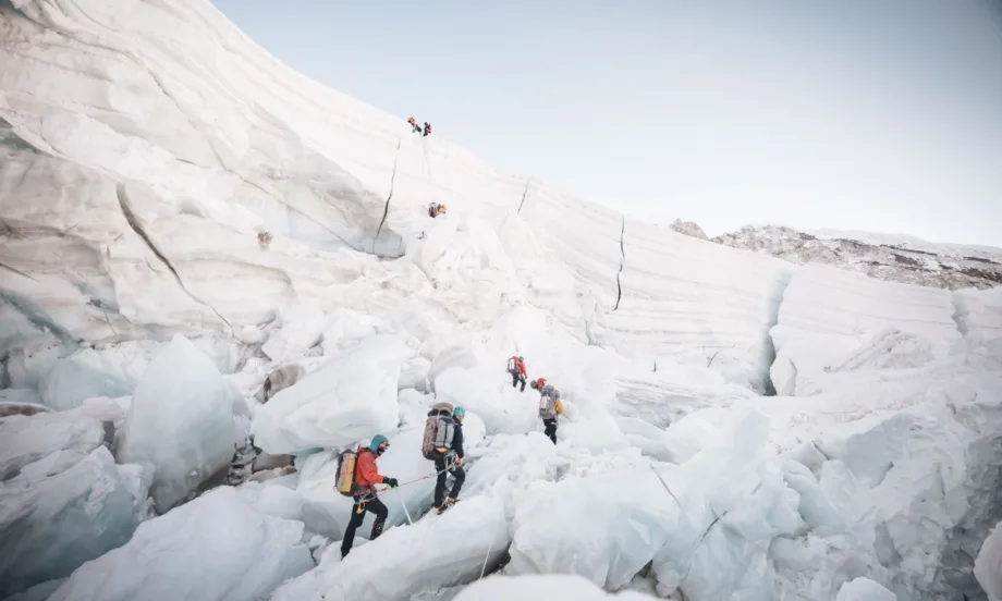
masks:
<instances>
[{"instance_id":1,"label":"shadowed grey-blue ice block at left edge, near bottom corner","mask_svg":"<svg viewBox=\"0 0 1002 601\"><path fill-rule=\"evenodd\" d=\"M103 446L65 471L0 485L0 597L124 544L137 524L134 504Z\"/></svg>"}]
</instances>

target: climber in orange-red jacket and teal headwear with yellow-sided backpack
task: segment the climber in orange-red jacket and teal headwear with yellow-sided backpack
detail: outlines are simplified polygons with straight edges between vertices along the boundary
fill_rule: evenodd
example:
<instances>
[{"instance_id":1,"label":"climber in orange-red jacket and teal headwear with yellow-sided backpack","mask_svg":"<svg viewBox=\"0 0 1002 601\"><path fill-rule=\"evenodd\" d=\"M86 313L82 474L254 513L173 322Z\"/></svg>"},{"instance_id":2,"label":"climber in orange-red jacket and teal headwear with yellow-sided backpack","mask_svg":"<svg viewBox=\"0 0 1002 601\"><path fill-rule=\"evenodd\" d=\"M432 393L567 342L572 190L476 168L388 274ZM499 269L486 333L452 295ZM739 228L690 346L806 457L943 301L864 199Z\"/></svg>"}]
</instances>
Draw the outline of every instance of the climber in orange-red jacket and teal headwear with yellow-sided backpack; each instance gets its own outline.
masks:
<instances>
[{"instance_id":1,"label":"climber in orange-red jacket and teal headwear with yellow-sided backpack","mask_svg":"<svg viewBox=\"0 0 1002 601\"><path fill-rule=\"evenodd\" d=\"M352 505L352 517L344 530L344 540L341 541L342 559L352 550L352 544L355 542L355 530L365 522L366 512L376 515L369 540L376 540L382 533L389 510L379 500L376 485L394 488L398 482L396 478L387 478L379 474L376 459L386 453L389 446L390 441L387 440L387 437L376 434L368 446L359 446L354 453L345 451L338 459L338 491L355 500Z\"/></svg>"}]
</instances>

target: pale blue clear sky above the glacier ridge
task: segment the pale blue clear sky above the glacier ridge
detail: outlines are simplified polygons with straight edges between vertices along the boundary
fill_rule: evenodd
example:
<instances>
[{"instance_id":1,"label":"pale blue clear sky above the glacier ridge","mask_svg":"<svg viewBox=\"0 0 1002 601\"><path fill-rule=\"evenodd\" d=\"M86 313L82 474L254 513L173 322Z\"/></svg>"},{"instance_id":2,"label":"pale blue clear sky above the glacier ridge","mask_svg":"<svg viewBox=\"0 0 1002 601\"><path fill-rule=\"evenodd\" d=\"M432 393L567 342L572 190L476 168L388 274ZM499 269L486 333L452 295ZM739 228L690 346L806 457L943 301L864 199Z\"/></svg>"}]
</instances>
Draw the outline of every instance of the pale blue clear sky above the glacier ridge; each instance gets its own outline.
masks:
<instances>
[{"instance_id":1,"label":"pale blue clear sky above the glacier ridge","mask_svg":"<svg viewBox=\"0 0 1002 601\"><path fill-rule=\"evenodd\" d=\"M297 71L636 217L1002 246L997 0L213 0Z\"/></svg>"}]
</instances>

